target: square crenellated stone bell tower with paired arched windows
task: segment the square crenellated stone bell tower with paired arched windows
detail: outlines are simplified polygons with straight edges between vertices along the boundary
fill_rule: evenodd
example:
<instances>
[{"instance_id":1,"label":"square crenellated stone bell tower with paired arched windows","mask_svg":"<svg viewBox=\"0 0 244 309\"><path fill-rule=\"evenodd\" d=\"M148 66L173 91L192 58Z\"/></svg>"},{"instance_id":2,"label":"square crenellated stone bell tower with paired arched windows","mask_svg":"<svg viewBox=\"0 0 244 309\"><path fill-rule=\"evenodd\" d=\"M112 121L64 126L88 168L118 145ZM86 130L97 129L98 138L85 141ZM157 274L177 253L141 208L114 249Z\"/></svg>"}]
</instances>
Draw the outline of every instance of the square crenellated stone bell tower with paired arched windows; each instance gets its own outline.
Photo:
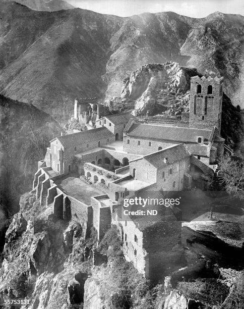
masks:
<instances>
[{"instance_id":1,"label":"square crenellated stone bell tower with paired arched windows","mask_svg":"<svg viewBox=\"0 0 244 309\"><path fill-rule=\"evenodd\" d=\"M189 127L211 130L216 126L220 132L223 77L191 78Z\"/></svg>"}]
</instances>

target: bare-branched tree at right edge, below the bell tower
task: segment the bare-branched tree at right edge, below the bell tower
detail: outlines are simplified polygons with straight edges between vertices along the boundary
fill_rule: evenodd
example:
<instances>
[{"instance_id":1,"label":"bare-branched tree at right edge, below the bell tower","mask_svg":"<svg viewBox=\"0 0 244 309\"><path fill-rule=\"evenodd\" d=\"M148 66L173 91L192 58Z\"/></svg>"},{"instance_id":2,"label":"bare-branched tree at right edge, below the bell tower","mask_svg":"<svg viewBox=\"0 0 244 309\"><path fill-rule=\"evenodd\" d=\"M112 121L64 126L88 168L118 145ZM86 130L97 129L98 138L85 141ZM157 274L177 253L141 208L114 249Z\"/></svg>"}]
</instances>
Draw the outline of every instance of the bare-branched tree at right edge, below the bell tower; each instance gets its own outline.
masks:
<instances>
[{"instance_id":1,"label":"bare-branched tree at right edge, below the bell tower","mask_svg":"<svg viewBox=\"0 0 244 309\"><path fill-rule=\"evenodd\" d=\"M218 166L218 180L229 194L244 199L244 164L240 158L224 156Z\"/></svg>"}]
</instances>

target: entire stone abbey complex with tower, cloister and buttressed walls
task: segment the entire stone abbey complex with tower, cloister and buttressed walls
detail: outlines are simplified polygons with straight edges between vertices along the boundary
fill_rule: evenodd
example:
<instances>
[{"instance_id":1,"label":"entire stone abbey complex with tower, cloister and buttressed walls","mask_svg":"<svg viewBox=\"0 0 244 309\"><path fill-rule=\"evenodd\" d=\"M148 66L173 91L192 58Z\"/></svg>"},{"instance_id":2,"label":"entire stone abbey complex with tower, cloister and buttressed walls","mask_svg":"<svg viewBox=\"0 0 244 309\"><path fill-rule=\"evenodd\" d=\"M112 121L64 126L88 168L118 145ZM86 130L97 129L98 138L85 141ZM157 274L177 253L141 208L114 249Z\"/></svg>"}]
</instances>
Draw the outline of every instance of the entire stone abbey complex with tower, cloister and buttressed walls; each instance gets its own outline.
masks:
<instances>
[{"instance_id":1,"label":"entire stone abbey complex with tower, cloister and buttressed walls","mask_svg":"<svg viewBox=\"0 0 244 309\"><path fill-rule=\"evenodd\" d=\"M81 221L84 235L94 227L99 242L116 225L126 258L152 279L163 273L165 259L177 265L167 239L180 242L181 210L150 199L143 208L126 208L125 199L178 197L196 179L204 187L218 157L231 151L220 136L223 78L192 77L190 93L181 127L111 115L96 98L75 99L74 118L88 129L53 138L33 182L42 207L52 205L58 219ZM137 210L149 215L135 215Z\"/></svg>"}]
</instances>

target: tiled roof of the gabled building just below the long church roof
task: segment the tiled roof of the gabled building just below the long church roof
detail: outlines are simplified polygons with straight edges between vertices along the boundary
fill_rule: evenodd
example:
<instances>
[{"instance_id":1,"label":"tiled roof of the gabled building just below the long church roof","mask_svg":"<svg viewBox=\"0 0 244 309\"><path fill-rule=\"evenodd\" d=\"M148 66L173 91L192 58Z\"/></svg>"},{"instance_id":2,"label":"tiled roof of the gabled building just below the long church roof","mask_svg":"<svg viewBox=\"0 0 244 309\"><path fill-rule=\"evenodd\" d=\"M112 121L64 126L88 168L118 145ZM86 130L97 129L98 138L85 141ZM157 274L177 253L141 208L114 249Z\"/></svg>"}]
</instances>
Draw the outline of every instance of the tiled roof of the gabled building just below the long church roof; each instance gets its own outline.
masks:
<instances>
[{"instance_id":1,"label":"tiled roof of the gabled building just below the long church roof","mask_svg":"<svg viewBox=\"0 0 244 309\"><path fill-rule=\"evenodd\" d=\"M150 155L146 155L143 158L157 169L160 169L190 156L191 154L186 146L184 144L179 144L150 153ZM167 163L164 163L164 158L167 158Z\"/></svg>"}]
</instances>

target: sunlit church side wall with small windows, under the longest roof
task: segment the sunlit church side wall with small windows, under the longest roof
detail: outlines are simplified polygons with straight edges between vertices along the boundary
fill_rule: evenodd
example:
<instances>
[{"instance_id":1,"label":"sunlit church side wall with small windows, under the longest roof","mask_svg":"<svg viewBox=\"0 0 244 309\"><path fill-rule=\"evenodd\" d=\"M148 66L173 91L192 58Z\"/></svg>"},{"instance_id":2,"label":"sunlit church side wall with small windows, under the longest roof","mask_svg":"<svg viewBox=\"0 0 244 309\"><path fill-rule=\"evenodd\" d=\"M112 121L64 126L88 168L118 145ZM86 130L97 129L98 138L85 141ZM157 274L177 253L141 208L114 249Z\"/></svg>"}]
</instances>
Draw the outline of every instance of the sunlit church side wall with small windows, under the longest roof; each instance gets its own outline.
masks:
<instances>
[{"instance_id":1,"label":"sunlit church side wall with small windows, under the longest roof","mask_svg":"<svg viewBox=\"0 0 244 309\"><path fill-rule=\"evenodd\" d=\"M129 144L128 144L129 140ZM140 145L138 145L140 141ZM150 144L151 143L151 144ZM156 139L147 139L142 137L130 137L124 136L123 138L124 151L129 153L134 153L136 155L148 155L151 152L158 151L159 147L162 149L179 144L179 142L167 141L167 140L156 140ZM151 146L150 146L151 145Z\"/></svg>"}]
</instances>

